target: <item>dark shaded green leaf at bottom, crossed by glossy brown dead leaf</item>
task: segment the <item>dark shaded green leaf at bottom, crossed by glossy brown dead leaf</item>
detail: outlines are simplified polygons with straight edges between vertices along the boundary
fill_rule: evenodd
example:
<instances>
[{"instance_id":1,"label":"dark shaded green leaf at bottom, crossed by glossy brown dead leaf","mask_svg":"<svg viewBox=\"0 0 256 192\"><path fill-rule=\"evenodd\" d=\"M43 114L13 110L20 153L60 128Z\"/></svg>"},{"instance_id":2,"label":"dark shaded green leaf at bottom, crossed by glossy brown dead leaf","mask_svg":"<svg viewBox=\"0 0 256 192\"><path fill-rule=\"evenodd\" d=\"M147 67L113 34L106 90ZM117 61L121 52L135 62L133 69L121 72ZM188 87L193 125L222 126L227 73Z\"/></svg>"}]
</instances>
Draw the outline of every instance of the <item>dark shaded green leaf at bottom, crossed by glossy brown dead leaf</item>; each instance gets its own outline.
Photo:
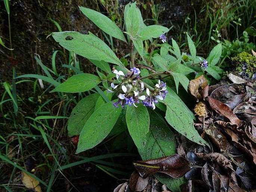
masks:
<instances>
[{"instance_id":1,"label":"dark shaded green leaf at bottom, crossed by glossy brown dead leaf","mask_svg":"<svg viewBox=\"0 0 256 192\"><path fill-rule=\"evenodd\" d=\"M176 153L176 136L163 117L157 112L150 110L150 127L146 135L144 148L139 149L142 160L166 157ZM156 176L160 182L164 183L171 191L179 192L179 186L185 183L185 179L173 179L167 176Z\"/></svg>"}]
</instances>

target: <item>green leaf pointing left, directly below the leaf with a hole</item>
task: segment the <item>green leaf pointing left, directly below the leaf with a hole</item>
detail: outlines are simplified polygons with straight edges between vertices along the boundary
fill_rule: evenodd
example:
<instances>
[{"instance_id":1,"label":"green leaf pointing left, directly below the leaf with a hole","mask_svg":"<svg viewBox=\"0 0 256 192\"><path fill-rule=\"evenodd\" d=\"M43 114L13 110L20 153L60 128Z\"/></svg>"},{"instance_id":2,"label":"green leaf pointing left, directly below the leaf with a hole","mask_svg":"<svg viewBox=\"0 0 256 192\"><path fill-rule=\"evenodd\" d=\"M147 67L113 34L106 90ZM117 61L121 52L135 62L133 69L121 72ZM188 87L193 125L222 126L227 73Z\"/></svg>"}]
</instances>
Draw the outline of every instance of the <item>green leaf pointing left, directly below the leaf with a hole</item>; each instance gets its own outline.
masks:
<instances>
[{"instance_id":1,"label":"green leaf pointing left, directly below the leaf with a hole","mask_svg":"<svg viewBox=\"0 0 256 192\"><path fill-rule=\"evenodd\" d=\"M80 93L89 91L101 82L101 79L96 75L83 73L73 75L64 83L58 85L51 92L65 92L65 93Z\"/></svg>"}]
</instances>

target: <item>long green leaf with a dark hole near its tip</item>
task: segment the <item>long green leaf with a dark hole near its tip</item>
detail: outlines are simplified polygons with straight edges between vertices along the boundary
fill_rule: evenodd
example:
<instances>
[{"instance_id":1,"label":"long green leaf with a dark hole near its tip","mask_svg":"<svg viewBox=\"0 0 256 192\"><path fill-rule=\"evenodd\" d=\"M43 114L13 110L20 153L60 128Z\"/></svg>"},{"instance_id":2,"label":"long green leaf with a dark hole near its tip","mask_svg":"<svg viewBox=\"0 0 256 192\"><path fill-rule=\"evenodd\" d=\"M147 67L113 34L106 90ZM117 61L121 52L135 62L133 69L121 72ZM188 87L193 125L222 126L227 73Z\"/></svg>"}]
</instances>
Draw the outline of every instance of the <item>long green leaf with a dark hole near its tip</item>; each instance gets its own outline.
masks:
<instances>
[{"instance_id":1,"label":"long green leaf with a dark hole near its tip","mask_svg":"<svg viewBox=\"0 0 256 192\"><path fill-rule=\"evenodd\" d=\"M52 37L65 49L85 58L123 66L110 47L91 32L89 35L73 31L53 32Z\"/></svg>"}]
</instances>

